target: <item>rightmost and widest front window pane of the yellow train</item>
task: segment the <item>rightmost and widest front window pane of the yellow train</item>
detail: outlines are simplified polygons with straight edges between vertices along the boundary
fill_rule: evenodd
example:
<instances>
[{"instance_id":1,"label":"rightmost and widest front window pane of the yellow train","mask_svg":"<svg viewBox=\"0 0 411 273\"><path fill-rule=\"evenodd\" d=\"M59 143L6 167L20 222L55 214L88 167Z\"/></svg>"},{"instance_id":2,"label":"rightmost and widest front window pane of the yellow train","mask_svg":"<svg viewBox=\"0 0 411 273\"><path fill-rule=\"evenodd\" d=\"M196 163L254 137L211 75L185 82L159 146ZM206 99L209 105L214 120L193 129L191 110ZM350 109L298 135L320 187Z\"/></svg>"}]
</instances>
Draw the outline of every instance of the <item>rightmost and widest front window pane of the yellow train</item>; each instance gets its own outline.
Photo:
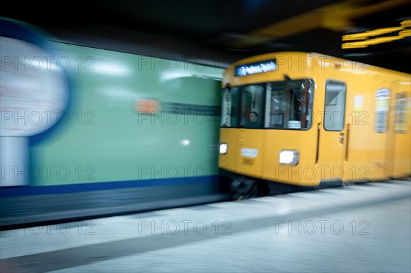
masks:
<instances>
[{"instance_id":1,"label":"rightmost and widest front window pane of the yellow train","mask_svg":"<svg viewBox=\"0 0 411 273\"><path fill-rule=\"evenodd\" d=\"M270 83L269 127L309 129L312 120L314 84L310 79Z\"/></svg>"}]
</instances>

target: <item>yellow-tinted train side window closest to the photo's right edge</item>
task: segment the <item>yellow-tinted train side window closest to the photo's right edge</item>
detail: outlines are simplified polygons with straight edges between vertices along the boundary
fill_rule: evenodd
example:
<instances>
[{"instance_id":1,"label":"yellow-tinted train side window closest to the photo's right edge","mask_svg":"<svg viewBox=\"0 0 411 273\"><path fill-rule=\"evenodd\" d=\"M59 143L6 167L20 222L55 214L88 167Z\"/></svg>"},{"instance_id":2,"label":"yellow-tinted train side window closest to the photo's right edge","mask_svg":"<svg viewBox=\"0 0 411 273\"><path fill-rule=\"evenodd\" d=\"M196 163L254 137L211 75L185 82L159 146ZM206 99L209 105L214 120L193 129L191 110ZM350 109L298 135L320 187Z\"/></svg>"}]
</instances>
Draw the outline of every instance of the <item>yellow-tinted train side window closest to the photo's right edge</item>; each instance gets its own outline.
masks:
<instances>
[{"instance_id":1,"label":"yellow-tinted train side window closest to the photo's right edge","mask_svg":"<svg viewBox=\"0 0 411 273\"><path fill-rule=\"evenodd\" d=\"M410 116L410 98L407 98L407 93L398 93L395 96L395 118L394 132L407 133L408 118Z\"/></svg>"}]
</instances>

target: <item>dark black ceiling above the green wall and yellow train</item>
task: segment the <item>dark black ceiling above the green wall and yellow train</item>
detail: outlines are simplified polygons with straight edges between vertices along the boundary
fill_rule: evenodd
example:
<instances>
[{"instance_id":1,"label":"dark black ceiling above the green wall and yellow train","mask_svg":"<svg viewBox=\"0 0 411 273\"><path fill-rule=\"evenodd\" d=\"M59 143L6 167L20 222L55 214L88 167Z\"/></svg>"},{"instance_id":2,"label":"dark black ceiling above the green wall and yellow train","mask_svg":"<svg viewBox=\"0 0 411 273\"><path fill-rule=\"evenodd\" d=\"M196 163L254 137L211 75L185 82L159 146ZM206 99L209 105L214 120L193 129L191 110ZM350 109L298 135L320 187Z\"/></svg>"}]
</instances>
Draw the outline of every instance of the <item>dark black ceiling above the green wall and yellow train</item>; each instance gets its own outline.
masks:
<instances>
[{"instance_id":1,"label":"dark black ceiling above the green wall and yellow train","mask_svg":"<svg viewBox=\"0 0 411 273\"><path fill-rule=\"evenodd\" d=\"M314 51L411 73L409 25L399 40L341 46L345 34L400 27L410 10L410 0L14 1L0 16L63 42L221 67L260 53Z\"/></svg>"}]
</instances>

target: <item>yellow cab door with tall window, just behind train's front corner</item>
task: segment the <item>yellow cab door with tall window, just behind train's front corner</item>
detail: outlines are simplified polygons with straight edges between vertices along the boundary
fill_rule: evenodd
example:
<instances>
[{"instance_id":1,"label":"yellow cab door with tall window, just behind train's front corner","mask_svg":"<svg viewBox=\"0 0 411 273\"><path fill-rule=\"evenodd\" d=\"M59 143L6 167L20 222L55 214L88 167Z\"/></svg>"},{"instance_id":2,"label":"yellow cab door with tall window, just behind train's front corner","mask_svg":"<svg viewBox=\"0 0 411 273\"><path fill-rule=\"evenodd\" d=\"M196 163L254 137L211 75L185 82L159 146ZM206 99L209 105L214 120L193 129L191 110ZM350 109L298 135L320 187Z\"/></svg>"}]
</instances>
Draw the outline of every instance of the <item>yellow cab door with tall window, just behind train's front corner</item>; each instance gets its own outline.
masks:
<instances>
[{"instance_id":1,"label":"yellow cab door with tall window, just behind train's front corner","mask_svg":"<svg viewBox=\"0 0 411 273\"><path fill-rule=\"evenodd\" d=\"M325 84L323 127L319 127L319 161L321 181L342 181L345 159L345 99L344 82L328 80Z\"/></svg>"}]
</instances>

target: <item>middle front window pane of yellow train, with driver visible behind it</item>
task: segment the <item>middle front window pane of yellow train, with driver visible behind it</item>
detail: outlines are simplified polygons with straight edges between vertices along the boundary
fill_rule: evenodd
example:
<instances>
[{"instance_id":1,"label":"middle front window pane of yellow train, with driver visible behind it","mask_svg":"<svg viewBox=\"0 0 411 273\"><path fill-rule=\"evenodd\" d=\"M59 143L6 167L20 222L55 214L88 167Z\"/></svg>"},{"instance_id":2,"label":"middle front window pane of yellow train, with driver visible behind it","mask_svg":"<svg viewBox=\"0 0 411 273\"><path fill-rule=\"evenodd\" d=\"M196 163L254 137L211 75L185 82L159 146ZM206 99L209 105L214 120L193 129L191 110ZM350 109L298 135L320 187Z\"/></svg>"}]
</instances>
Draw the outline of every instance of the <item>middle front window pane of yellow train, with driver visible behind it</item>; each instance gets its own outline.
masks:
<instances>
[{"instance_id":1,"label":"middle front window pane of yellow train, with driver visible behind it","mask_svg":"<svg viewBox=\"0 0 411 273\"><path fill-rule=\"evenodd\" d=\"M241 89L240 127L262 128L265 84L242 86Z\"/></svg>"}]
</instances>

